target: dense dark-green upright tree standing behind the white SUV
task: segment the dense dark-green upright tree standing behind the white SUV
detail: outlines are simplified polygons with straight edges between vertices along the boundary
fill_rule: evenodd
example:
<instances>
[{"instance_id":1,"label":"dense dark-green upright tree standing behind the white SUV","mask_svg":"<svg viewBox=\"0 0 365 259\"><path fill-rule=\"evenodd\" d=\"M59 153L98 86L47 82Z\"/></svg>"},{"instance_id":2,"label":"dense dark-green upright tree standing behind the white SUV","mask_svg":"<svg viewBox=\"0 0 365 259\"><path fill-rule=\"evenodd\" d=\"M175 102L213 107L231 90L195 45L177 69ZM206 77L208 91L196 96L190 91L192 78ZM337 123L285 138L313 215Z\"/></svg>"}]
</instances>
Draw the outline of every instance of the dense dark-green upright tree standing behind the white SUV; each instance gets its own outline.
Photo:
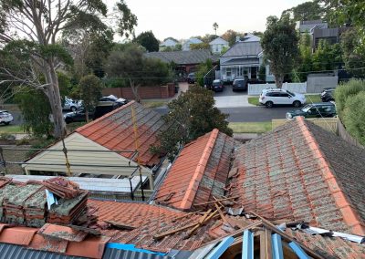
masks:
<instances>
[{"instance_id":1,"label":"dense dark-green upright tree standing behind the white SUV","mask_svg":"<svg viewBox=\"0 0 365 259\"><path fill-rule=\"evenodd\" d=\"M261 46L274 74L277 88L282 87L285 75L290 74L297 63L297 44L295 24L288 16L282 16L280 19L276 16L267 17Z\"/></svg>"}]
</instances>

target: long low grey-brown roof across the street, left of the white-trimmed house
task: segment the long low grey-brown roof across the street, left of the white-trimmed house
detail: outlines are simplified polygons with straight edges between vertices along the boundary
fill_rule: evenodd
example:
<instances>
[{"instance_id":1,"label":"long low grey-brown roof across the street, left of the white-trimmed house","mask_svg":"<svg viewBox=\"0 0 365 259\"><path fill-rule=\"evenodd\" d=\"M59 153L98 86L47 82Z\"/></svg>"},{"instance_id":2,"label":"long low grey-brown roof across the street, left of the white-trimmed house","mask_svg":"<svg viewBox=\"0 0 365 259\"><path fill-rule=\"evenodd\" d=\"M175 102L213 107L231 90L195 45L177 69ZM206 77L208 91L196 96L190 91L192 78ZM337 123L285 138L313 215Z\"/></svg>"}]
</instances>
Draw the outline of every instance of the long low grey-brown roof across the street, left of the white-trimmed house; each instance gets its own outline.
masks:
<instances>
[{"instance_id":1,"label":"long low grey-brown roof across the street, left of the white-trimmed house","mask_svg":"<svg viewBox=\"0 0 365 259\"><path fill-rule=\"evenodd\" d=\"M194 49L189 51L166 51L150 52L145 54L146 57L154 57L165 63L175 63L177 65L193 65L205 62L207 59L217 61L218 58L212 55L209 49Z\"/></svg>"}]
</instances>

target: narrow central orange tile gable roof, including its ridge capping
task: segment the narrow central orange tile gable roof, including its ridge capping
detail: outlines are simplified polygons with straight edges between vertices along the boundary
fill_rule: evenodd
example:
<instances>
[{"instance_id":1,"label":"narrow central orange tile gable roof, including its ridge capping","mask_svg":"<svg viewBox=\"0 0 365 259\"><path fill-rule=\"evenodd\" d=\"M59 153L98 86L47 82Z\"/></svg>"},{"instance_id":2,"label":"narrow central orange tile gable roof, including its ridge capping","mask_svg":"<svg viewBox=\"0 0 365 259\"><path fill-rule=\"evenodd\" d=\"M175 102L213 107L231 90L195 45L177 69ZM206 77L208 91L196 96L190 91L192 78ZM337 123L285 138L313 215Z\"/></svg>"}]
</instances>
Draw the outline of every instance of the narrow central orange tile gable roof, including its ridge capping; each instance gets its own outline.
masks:
<instances>
[{"instance_id":1,"label":"narrow central orange tile gable roof, including its ridge capping","mask_svg":"<svg viewBox=\"0 0 365 259\"><path fill-rule=\"evenodd\" d=\"M214 129L186 145L155 196L181 210L224 195L234 140Z\"/></svg>"}]
</instances>

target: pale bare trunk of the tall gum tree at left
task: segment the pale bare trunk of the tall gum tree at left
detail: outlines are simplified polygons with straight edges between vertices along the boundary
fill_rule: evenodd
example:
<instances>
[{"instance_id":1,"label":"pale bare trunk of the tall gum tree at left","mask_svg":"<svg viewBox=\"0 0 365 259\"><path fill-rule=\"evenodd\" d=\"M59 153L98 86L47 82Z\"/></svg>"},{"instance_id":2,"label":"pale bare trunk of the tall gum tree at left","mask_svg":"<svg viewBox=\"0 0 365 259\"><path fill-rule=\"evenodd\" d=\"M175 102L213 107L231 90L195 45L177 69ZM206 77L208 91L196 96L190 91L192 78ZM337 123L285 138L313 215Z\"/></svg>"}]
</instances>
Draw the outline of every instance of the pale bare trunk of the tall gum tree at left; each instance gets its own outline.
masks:
<instances>
[{"instance_id":1,"label":"pale bare trunk of the tall gum tree at left","mask_svg":"<svg viewBox=\"0 0 365 259\"><path fill-rule=\"evenodd\" d=\"M66 125L62 113L61 96L58 88L57 73L51 64L47 64L45 69L47 87L47 97L51 106L53 121L55 125L54 135L59 139L66 135Z\"/></svg>"}]
</instances>

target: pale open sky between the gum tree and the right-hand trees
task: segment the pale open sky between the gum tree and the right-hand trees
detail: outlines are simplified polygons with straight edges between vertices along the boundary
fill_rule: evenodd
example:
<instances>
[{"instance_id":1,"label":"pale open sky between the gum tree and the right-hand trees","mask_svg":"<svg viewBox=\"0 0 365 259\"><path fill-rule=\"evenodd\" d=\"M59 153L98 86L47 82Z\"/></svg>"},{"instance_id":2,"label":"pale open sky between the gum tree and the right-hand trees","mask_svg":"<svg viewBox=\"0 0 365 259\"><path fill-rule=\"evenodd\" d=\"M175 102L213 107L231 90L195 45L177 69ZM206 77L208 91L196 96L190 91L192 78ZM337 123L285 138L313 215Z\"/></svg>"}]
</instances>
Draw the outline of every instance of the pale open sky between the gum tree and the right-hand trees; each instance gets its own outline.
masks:
<instances>
[{"instance_id":1,"label":"pale open sky between the gum tree and the right-hand trees","mask_svg":"<svg viewBox=\"0 0 365 259\"><path fill-rule=\"evenodd\" d=\"M307 0L308 1L308 0ZM306 0L125 0L138 17L136 35L151 30L158 39L168 36L186 39L191 36L217 35L228 29L238 32L265 31L267 16L280 16L282 11ZM117 1L104 0L110 10Z\"/></svg>"}]
</instances>

